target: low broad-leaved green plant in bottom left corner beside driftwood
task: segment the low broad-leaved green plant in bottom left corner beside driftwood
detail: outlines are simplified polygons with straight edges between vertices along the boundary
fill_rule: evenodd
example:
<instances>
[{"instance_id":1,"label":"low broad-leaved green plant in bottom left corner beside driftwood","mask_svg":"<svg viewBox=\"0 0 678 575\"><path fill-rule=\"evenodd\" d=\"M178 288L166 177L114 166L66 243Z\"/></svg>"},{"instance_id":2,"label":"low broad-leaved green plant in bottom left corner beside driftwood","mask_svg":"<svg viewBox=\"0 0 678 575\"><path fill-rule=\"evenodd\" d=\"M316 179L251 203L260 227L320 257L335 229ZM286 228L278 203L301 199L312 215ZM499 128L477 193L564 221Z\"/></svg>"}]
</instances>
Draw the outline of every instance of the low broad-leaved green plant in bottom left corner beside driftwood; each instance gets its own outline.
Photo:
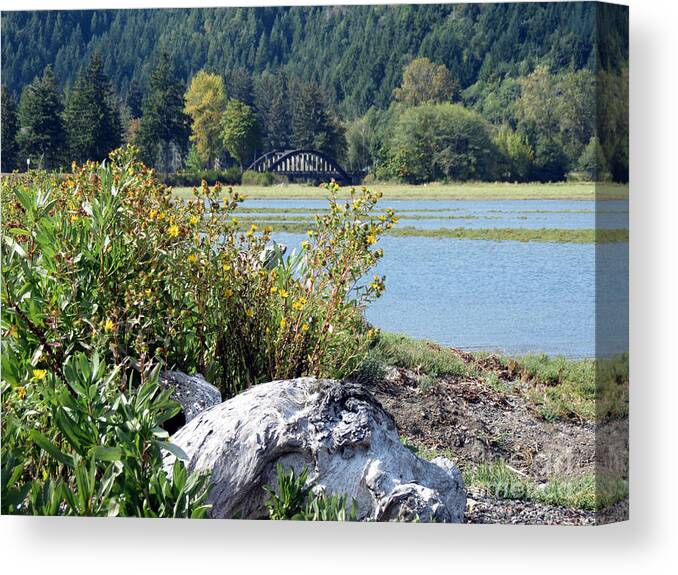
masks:
<instances>
[{"instance_id":1,"label":"low broad-leaved green plant in bottom left corner beside driftwood","mask_svg":"<svg viewBox=\"0 0 678 575\"><path fill-rule=\"evenodd\" d=\"M63 377L27 370L3 343L2 513L204 517L208 477L161 425L180 406L158 385L159 365L138 389L97 354L69 357ZM171 475L162 451L176 459Z\"/></svg>"}]
</instances>

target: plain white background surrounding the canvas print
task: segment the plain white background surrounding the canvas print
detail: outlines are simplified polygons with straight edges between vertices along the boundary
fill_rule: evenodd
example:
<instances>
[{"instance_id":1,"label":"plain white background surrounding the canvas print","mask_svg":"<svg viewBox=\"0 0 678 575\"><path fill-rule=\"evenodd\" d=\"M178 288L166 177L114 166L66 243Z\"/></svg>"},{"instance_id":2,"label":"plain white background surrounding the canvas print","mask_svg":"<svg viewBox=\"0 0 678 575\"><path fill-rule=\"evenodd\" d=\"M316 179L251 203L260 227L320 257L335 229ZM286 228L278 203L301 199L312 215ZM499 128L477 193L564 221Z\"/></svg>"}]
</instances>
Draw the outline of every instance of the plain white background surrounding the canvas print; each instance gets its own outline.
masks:
<instances>
[{"instance_id":1,"label":"plain white background surrounding the canvas print","mask_svg":"<svg viewBox=\"0 0 678 575\"><path fill-rule=\"evenodd\" d=\"M231 4L295 3L299 2ZM632 134L629 522L593 528L2 517L3 571L39 570L50 575L161 571L249 575L264 570L351 575L676 572L678 3L627 3ZM143 7L227 4L141 0ZM2 3L3 10L92 7L140 5L130 1Z\"/></svg>"}]
</instances>

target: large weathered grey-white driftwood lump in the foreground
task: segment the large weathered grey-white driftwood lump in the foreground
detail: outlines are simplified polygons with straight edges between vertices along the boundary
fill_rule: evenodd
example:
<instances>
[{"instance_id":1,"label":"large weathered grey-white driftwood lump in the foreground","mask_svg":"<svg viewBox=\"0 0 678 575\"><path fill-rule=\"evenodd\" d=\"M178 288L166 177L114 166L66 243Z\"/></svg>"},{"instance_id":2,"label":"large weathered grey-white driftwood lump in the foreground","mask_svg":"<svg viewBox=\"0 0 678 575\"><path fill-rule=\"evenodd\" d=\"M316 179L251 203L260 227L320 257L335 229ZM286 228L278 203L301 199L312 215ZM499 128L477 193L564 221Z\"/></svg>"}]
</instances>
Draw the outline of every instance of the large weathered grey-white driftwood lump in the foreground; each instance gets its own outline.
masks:
<instances>
[{"instance_id":1,"label":"large weathered grey-white driftwood lump in the foreground","mask_svg":"<svg viewBox=\"0 0 678 575\"><path fill-rule=\"evenodd\" d=\"M360 519L461 522L459 470L417 457L393 418L355 383L299 378L257 385L172 437L190 471L210 471L212 516L265 518L275 466L306 467L314 489L347 494ZM165 459L169 471L174 462Z\"/></svg>"}]
</instances>

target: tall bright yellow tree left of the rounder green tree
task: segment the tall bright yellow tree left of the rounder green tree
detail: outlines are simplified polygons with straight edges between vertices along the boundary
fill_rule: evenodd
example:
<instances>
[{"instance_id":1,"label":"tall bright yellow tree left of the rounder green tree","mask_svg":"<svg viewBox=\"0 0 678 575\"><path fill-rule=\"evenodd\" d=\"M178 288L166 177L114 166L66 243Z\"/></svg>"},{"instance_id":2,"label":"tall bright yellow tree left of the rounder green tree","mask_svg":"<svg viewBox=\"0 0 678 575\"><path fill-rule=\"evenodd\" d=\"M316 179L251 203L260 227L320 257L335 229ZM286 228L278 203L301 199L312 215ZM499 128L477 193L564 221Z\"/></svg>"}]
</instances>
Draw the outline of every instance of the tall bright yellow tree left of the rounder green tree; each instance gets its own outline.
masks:
<instances>
[{"instance_id":1,"label":"tall bright yellow tree left of the rounder green tree","mask_svg":"<svg viewBox=\"0 0 678 575\"><path fill-rule=\"evenodd\" d=\"M191 141L205 164L213 166L223 150L221 117L226 110L224 80L200 70L186 91L185 112L191 117Z\"/></svg>"}]
</instances>

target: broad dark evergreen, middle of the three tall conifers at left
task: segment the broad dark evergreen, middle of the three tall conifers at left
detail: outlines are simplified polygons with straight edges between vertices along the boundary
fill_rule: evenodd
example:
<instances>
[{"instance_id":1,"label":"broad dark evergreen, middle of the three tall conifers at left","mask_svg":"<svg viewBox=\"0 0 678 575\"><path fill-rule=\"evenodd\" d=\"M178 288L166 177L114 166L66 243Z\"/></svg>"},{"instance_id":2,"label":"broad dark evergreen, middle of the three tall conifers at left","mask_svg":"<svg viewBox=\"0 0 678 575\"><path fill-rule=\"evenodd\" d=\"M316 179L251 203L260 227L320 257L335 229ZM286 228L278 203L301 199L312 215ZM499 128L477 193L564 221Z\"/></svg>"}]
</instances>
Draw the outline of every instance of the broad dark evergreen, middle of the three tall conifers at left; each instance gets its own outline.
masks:
<instances>
[{"instance_id":1,"label":"broad dark evergreen, middle of the three tall conifers at left","mask_svg":"<svg viewBox=\"0 0 678 575\"><path fill-rule=\"evenodd\" d=\"M68 94L64 120L71 160L100 162L120 146L120 113L98 55L92 57Z\"/></svg>"}]
</instances>

